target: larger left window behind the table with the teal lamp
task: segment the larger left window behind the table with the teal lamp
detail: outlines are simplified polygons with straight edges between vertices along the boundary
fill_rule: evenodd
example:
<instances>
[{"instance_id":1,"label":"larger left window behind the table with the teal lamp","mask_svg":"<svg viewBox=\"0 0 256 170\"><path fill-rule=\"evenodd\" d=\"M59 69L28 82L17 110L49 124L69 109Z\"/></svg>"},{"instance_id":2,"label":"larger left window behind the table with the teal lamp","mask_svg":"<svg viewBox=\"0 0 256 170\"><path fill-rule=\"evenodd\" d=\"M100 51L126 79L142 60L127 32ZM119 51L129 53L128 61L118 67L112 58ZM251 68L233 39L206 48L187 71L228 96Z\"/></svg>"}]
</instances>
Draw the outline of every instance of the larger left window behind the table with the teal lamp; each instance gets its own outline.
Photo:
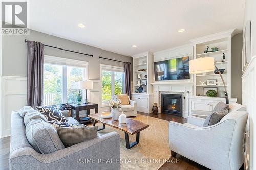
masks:
<instances>
[{"instance_id":1,"label":"larger left window behind the table with the teal lamp","mask_svg":"<svg viewBox=\"0 0 256 170\"><path fill-rule=\"evenodd\" d=\"M47 56L44 64L44 105L76 103L78 81L87 78L87 62Z\"/></svg>"}]
</instances>

